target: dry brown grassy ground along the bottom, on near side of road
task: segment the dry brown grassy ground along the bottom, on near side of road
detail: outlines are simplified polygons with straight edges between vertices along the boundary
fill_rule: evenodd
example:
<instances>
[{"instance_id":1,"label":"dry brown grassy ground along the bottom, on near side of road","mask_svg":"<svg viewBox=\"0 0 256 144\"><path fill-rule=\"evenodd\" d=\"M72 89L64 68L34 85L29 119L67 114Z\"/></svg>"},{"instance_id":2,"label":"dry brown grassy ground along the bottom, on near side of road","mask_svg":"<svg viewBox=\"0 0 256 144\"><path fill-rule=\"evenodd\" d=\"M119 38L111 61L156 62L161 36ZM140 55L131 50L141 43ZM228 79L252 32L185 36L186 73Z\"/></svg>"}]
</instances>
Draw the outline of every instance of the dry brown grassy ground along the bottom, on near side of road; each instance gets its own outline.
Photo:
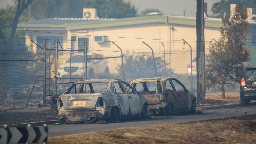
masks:
<instances>
[{"instance_id":1,"label":"dry brown grassy ground along the bottom, on near side of road","mask_svg":"<svg viewBox=\"0 0 256 144\"><path fill-rule=\"evenodd\" d=\"M47 143L256 143L256 115L151 124L48 138Z\"/></svg>"}]
</instances>

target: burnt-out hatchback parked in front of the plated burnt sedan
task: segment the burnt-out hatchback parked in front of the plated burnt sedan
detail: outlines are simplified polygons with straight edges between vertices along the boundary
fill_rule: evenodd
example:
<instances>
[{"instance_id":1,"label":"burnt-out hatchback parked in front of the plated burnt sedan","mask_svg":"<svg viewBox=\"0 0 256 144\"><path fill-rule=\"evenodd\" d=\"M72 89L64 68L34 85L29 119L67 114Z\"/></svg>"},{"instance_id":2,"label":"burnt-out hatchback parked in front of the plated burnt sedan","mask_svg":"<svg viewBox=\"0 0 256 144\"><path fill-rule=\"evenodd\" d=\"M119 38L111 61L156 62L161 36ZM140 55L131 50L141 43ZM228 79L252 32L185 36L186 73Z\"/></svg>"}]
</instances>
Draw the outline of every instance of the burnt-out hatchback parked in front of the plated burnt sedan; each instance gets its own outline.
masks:
<instances>
[{"instance_id":1,"label":"burnt-out hatchback parked in front of the plated burnt sedan","mask_svg":"<svg viewBox=\"0 0 256 144\"><path fill-rule=\"evenodd\" d=\"M196 112L196 96L175 78L140 78L129 84L147 98L148 115Z\"/></svg>"}]
</instances>

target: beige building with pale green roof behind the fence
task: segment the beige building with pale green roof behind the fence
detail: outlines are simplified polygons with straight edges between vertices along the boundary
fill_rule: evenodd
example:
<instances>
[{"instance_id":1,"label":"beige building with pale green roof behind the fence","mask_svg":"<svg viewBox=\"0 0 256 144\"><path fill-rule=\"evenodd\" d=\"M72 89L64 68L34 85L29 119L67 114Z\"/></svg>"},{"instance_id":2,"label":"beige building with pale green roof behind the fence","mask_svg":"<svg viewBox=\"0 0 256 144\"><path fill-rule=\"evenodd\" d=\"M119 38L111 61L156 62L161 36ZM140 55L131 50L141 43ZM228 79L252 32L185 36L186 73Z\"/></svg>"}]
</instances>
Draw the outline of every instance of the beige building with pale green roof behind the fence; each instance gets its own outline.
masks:
<instances>
[{"instance_id":1,"label":"beige building with pale green roof behind the fence","mask_svg":"<svg viewBox=\"0 0 256 144\"><path fill-rule=\"evenodd\" d=\"M205 18L205 51L208 42L220 37L221 19ZM58 37L64 49L77 49L84 39L88 40L88 51L106 56L119 56L123 52L151 52L144 41L152 47L155 57L165 53L169 67L177 74L186 74L190 63L190 47L183 44L184 39L192 47L192 59L196 57L196 18L182 16L148 15L122 19L99 18L50 18L18 24L26 31L26 44L35 39L43 44L53 44ZM33 52L38 51L36 46Z\"/></svg>"}]
</instances>

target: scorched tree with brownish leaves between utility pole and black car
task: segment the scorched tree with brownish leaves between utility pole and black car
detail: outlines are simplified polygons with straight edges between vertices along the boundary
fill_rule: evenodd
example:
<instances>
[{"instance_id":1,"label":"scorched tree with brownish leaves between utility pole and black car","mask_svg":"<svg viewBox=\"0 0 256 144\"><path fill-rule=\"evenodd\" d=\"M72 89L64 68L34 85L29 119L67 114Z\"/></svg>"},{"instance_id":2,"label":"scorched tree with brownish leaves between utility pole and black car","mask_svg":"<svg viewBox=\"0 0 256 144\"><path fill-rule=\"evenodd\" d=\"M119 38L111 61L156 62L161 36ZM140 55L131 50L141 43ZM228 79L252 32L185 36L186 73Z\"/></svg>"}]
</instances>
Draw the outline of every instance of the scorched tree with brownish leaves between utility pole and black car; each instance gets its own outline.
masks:
<instances>
[{"instance_id":1,"label":"scorched tree with brownish leaves between utility pole and black car","mask_svg":"<svg viewBox=\"0 0 256 144\"><path fill-rule=\"evenodd\" d=\"M225 98L225 85L234 86L239 83L244 74L244 62L250 61L250 49L245 43L248 36L249 22L247 13L241 12L241 5L234 13L222 18L220 38L218 42L209 43L209 55L206 63L207 87L219 87ZM241 12L241 13L240 13Z\"/></svg>"}]
</instances>

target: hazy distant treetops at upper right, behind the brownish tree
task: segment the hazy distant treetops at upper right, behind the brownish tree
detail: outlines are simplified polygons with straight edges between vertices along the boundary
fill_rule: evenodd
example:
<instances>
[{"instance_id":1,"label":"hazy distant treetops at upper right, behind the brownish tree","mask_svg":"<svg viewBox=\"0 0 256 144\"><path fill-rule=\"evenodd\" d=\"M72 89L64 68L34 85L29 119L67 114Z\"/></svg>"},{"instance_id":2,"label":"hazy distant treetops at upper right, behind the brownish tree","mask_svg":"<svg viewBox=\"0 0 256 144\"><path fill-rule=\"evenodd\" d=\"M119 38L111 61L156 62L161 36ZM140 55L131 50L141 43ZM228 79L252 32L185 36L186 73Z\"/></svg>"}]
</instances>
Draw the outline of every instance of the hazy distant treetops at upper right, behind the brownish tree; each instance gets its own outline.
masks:
<instances>
[{"instance_id":1,"label":"hazy distant treetops at upper right, behind the brownish tree","mask_svg":"<svg viewBox=\"0 0 256 144\"><path fill-rule=\"evenodd\" d=\"M215 14L216 18L228 16L230 4L242 4L242 12L246 12L247 8L256 8L256 0L221 0L213 4L211 11Z\"/></svg>"}]
</instances>

